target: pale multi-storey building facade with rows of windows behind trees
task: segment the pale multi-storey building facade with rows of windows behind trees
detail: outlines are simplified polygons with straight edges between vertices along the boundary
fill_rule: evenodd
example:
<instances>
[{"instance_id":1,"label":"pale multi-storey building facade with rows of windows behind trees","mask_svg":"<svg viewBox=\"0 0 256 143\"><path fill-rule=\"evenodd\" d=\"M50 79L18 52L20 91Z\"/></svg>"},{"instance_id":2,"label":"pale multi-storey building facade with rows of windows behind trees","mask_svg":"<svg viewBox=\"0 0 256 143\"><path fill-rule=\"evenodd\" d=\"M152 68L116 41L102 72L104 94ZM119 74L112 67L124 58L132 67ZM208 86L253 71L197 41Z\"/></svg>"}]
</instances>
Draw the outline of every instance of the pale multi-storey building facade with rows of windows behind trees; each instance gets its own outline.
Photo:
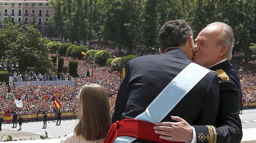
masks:
<instances>
[{"instance_id":1,"label":"pale multi-storey building facade with rows of windows behind trees","mask_svg":"<svg viewBox=\"0 0 256 143\"><path fill-rule=\"evenodd\" d=\"M38 29L45 36L45 23L53 15L49 0L0 0L0 27L4 19L11 15L13 23L38 24Z\"/></svg>"}]
</instances>

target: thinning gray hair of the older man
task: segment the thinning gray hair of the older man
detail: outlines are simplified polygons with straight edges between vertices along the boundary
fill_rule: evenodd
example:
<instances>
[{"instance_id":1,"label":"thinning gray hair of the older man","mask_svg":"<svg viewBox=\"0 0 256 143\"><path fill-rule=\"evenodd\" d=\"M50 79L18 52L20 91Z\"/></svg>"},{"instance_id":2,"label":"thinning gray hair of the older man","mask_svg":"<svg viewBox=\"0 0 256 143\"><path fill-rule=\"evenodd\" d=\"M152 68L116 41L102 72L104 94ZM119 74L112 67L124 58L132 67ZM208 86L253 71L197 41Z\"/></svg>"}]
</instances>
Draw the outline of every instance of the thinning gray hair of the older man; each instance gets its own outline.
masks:
<instances>
[{"instance_id":1,"label":"thinning gray hair of the older man","mask_svg":"<svg viewBox=\"0 0 256 143\"><path fill-rule=\"evenodd\" d=\"M232 28L228 24L222 23L222 22L214 22L207 25L207 27L208 26L216 26L216 27L222 28L222 31L218 38L218 42L219 42L219 45L228 46L227 54L228 54L228 60L230 61L232 58L232 50L234 46L234 33Z\"/></svg>"}]
</instances>

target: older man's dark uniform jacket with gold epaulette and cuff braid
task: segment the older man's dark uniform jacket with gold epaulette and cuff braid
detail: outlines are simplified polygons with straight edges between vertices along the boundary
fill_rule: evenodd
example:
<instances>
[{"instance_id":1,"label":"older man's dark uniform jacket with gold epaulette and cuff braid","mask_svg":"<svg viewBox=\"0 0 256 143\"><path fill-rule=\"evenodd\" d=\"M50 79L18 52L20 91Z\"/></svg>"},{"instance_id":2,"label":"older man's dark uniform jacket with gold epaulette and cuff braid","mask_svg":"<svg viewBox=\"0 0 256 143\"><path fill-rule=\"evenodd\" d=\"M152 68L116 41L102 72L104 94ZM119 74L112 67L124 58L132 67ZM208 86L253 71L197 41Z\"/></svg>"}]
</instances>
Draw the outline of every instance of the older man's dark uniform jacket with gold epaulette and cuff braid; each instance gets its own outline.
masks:
<instances>
[{"instance_id":1,"label":"older man's dark uniform jacket with gold epaulette and cuff braid","mask_svg":"<svg viewBox=\"0 0 256 143\"><path fill-rule=\"evenodd\" d=\"M213 71L223 70L227 73L229 80L221 81L220 79L219 82L220 104L215 124L216 128L213 126L194 126L197 143L240 143L243 136L239 117L242 93L237 70L228 60L210 69ZM214 135L216 136L215 142L211 142L207 138L212 130L216 131L216 135Z\"/></svg>"}]
</instances>

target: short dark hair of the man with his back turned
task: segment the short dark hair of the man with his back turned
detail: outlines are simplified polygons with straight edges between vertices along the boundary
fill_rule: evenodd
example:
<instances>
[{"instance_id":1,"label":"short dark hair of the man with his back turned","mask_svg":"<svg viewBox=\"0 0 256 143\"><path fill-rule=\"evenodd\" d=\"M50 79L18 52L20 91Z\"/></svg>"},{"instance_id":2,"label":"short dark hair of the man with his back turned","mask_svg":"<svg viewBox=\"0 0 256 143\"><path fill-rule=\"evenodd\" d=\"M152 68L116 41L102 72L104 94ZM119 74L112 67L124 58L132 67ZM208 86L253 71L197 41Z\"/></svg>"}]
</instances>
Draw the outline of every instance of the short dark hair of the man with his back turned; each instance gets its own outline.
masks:
<instances>
[{"instance_id":1,"label":"short dark hair of the man with his back turned","mask_svg":"<svg viewBox=\"0 0 256 143\"><path fill-rule=\"evenodd\" d=\"M158 33L158 44L163 51L168 47L184 46L192 35L192 29L185 21L170 20L161 27Z\"/></svg>"}]
</instances>

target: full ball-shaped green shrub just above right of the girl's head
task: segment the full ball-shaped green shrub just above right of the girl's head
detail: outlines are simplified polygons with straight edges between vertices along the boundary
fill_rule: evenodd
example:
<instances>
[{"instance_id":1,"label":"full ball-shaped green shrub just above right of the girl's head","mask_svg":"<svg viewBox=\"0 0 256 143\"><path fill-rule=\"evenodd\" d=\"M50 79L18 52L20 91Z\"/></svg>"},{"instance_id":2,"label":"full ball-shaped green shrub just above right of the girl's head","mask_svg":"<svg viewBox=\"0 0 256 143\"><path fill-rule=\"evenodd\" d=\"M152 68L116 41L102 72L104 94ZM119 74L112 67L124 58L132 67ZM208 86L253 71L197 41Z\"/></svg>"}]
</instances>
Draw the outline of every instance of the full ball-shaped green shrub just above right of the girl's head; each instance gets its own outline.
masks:
<instances>
[{"instance_id":1,"label":"full ball-shaped green shrub just above right of the girl's head","mask_svg":"<svg viewBox=\"0 0 256 143\"><path fill-rule=\"evenodd\" d=\"M100 50L95 54L95 62L100 66L106 65L109 58L111 58L111 54L108 50Z\"/></svg>"}]
</instances>

